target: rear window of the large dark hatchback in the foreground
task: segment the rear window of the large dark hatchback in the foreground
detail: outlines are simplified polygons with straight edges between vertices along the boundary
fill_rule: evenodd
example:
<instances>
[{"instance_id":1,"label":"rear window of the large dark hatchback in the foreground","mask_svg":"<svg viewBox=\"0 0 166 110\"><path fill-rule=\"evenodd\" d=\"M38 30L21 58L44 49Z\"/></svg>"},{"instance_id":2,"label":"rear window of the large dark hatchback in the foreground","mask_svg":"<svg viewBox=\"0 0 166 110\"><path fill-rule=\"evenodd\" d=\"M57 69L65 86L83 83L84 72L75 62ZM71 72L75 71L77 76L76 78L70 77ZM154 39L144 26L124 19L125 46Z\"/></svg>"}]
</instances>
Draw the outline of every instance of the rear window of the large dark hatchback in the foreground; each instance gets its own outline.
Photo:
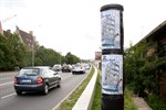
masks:
<instances>
[{"instance_id":1,"label":"rear window of the large dark hatchback in the foreground","mask_svg":"<svg viewBox=\"0 0 166 110\"><path fill-rule=\"evenodd\" d=\"M20 70L19 75L35 76L35 75L39 75L39 69L38 68L24 68Z\"/></svg>"}]
</instances>

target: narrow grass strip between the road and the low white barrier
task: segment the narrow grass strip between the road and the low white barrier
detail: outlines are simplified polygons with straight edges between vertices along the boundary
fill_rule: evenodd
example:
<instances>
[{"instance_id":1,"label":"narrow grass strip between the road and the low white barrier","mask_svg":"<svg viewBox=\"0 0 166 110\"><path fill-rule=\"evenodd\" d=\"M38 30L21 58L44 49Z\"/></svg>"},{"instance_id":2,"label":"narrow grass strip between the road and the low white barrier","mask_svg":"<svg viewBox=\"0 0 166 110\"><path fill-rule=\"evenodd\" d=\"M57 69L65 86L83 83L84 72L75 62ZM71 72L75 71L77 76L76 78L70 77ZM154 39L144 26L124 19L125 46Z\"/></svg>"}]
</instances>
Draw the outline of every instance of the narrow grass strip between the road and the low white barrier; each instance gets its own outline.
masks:
<instances>
[{"instance_id":1,"label":"narrow grass strip between the road and the low white barrier","mask_svg":"<svg viewBox=\"0 0 166 110\"><path fill-rule=\"evenodd\" d=\"M85 89L86 85L91 80L92 76L94 74L94 67L92 66L92 69L89 74L89 76L83 80L83 82L68 97L58 108L56 110L72 110L75 102L82 95L83 90Z\"/></svg>"}]
</instances>

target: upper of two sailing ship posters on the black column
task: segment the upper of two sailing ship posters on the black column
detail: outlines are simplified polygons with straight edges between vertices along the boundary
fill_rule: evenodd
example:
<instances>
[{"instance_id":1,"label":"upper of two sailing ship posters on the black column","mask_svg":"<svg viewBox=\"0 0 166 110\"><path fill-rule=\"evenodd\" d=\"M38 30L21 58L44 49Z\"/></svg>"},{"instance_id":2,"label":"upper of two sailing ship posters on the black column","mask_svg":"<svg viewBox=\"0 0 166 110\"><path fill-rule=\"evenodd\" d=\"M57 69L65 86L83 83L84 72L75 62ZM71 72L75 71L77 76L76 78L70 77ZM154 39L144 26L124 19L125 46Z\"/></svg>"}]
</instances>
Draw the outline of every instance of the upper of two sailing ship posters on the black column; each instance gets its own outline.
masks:
<instances>
[{"instance_id":1,"label":"upper of two sailing ship posters on the black column","mask_svg":"<svg viewBox=\"0 0 166 110\"><path fill-rule=\"evenodd\" d=\"M102 18L102 48L120 48L120 10L101 12Z\"/></svg>"}]
</instances>

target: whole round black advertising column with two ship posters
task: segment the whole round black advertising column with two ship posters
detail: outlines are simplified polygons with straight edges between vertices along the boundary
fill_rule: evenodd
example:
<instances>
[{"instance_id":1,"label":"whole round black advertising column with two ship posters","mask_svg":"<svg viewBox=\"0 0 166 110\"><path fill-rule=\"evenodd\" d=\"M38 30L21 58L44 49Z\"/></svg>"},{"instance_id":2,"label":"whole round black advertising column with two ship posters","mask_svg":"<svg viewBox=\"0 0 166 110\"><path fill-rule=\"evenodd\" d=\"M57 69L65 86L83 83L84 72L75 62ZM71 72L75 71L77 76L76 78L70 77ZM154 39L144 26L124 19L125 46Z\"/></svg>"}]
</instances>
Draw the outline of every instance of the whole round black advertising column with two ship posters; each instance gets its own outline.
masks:
<instances>
[{"instance_id":1,"label":"whole round black advertising column with two ship posters","mask_svg":"<svg viewBox=\"0 0 166 110\"><path fill-rule=\"evenodd\" d=\"M102 110L124 109L123 7L101 8Z\"/></svg>"}]
</instances>

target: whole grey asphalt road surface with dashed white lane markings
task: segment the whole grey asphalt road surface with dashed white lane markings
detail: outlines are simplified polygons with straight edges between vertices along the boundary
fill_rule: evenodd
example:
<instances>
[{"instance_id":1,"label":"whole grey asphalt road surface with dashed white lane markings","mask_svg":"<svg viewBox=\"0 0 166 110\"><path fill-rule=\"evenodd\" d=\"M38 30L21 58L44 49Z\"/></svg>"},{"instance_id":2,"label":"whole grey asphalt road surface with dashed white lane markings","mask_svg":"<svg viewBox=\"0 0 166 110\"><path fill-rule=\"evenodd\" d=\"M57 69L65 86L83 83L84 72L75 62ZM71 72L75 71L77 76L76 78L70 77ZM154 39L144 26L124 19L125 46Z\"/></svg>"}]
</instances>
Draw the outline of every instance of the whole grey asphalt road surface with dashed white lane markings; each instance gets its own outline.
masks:
<instances>
[{"instance_id":1,"label":"whole grey asphalt road surface with dashed white lane markings","mask_svg":"<svg viewBox=\"0 0 166 110\"><path fill-rule=\"evenodd\" d=\"M0 73L0 110L52 110L87 76L60 73L61 88L54 88L46 96L29 92L18 96L13 88L15 72Z\"/></svg>"}]
</instances>

